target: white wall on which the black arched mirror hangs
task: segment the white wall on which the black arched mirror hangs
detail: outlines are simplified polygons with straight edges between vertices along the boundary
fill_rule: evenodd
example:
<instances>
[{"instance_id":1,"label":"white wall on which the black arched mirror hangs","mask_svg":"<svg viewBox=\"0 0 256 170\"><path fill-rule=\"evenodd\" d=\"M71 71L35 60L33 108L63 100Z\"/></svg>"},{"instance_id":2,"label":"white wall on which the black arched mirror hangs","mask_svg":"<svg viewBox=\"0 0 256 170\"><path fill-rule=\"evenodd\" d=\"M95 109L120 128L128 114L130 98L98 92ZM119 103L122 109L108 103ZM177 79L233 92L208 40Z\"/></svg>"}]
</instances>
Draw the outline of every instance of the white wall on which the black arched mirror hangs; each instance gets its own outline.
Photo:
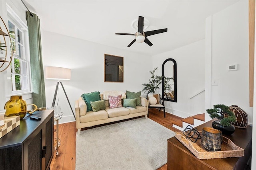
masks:
<instances>
[{"instance_id":1,"label":"white wall on which the black arched mirror hangs","mask_svg":"<svg viewBox=\"0 0 256 170\"><path fill-rule=\"evenodd\" d=\"M204 44L203 39L153 56L153 68L158 67L158 75L162 75L162 63L166 59L172 58L177 63L177 103L165 102L168 113L183 118L204 113L204 92L191 98L204 90ZM158 92L162 94L161 90Z\"/></svg>"}]
</instances>

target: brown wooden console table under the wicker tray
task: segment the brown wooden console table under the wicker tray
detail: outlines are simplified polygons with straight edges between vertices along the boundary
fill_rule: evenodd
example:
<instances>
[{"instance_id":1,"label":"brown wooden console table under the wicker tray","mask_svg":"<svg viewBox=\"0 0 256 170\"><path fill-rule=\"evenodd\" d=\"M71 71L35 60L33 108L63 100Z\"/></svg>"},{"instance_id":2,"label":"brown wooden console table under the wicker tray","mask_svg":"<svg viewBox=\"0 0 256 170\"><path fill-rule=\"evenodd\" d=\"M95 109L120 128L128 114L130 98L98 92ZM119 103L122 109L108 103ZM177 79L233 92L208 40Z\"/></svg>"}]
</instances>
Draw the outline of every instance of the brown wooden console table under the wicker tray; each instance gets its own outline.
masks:
<instances>
[{"instance_id":1,"label":"brown wooden console table under the wicker tray","mask_svg":"<svg viewBox=\"0 0 256 170\"><path fill-rule=\"evenodd\" d=\"M212 121L198 126L212 127ZM244 149L244 156L220 159L198 159L178 139L168 139L168 170L243 170L252 155L252 127L236 128L232 135L223 135Z\"/></svg>"}]
</instances>

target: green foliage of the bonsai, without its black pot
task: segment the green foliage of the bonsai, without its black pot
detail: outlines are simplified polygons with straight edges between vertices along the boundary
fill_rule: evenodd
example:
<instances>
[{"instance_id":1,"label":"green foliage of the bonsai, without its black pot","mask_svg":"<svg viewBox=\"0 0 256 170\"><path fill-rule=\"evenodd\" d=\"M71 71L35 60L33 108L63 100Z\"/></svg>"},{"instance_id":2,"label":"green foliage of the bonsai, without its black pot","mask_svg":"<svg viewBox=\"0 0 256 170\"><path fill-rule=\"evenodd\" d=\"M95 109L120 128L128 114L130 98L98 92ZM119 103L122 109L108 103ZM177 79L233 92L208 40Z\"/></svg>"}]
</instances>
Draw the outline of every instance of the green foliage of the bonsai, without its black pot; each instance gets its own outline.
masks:
<instances>
[{"instance_id":1,"label":"green foliage of the bonsai, without its black pot","mask_svg":"<svg viewBox=\"0 0 256 170\"><path fill-rule=\"evenodd\" d=\"M224 104L217 104L213 106L213 109L206 109L210 117L220 119L220 124L223 126L230 126L231 123L236 121L236 117L229 107Z\"/></svg>"}]
</instances>

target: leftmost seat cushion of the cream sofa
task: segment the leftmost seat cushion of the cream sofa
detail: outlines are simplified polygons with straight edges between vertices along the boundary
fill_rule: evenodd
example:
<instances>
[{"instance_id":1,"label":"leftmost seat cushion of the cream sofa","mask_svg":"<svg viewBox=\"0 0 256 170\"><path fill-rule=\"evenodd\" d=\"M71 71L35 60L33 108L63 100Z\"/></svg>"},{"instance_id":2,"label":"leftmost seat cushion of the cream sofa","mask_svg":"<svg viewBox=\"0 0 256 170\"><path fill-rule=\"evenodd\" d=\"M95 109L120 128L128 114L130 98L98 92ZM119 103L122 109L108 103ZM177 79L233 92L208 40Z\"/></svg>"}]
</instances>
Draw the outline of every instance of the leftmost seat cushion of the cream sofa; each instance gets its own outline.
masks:
<instances>
[{"instance_id":1,"label":"leftmost seat cushion of the cream sofa","mask_svg":"<svg viewBox=\"0 0 256 170\"><path fill-rule=\"evenodd\" d=\"M105 110L100 110L97 112L88 111L86 115L80 116L80 122L86 123L89 121L108 119L108 113Z\"/></svg>"}]
</instances>

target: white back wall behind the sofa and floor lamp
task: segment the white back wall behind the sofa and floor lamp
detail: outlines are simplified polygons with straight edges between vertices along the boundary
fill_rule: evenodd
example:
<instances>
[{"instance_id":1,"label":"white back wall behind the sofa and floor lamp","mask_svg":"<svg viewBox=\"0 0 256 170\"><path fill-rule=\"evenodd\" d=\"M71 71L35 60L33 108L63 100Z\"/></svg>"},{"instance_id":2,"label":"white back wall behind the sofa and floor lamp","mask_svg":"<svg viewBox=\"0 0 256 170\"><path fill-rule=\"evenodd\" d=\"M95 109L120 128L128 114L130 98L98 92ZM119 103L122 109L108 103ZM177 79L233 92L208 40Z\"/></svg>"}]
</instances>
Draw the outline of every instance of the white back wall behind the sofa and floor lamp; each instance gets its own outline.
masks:
<instances>
[{"instance_id":1,"label":"white back wall behind the sofa and floor lamp","mask_svg":"<svg viewBox=\"0 0 256 170\"><path fill-rule=\"evenodd\" d=\"M124 57L123 83L104 82L104 54ZM143 88L141 84L148 82L149 71L152 68L152 56L48 31L42 31L42 55L44 67L58 66L71 69L71 80L63 80L62 83L73 110L75 100L78 100L83 93L106 90L141 91ZM47 107L52 105L56 82L57 80L45 80ZM58 105L64 112L60 123L74 121L61 87L59 101Z\"/></svg>"}]
</instances>

